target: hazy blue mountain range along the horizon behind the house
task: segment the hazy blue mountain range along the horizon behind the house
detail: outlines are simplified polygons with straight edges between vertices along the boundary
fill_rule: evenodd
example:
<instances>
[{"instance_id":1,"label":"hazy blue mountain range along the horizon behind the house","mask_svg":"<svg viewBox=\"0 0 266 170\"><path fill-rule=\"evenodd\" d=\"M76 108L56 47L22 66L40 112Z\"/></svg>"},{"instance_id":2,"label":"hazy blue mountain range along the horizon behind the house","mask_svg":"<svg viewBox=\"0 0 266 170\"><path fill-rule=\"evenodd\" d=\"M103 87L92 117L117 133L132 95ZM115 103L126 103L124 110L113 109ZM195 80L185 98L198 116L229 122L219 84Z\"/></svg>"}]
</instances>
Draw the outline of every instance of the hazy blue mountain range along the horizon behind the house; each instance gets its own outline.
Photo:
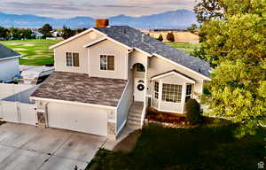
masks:
<instances>
[{"instance_id":1,"label":"hazy blue mountain range along the horizon behind the house","mask_svg":"<svg viewBox=\"0 0 266 170\"><path fill-rule=\"evenodd\" d=\"M71 19L55 19L36 15L17 15L0 12L0 26L2 27L42 27L49 23L52 27L94 27L94 19L90 17L74 17ZM187 28L196 23L195 14L188 10L163 12L160 14L130 17L118 15L110 18L110 25L130 26L136 28Z\"/></svg>"}]
</instances>

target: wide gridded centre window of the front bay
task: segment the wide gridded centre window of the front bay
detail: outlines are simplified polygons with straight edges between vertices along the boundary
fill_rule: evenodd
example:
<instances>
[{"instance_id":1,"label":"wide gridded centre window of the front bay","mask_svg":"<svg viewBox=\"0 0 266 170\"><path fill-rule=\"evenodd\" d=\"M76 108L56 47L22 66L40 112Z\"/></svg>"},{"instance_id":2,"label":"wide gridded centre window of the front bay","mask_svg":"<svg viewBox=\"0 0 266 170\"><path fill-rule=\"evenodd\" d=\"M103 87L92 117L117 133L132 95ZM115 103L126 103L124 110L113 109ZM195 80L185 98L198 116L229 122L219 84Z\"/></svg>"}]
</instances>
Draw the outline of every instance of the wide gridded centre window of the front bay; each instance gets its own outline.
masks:
<instances>
[{"instance_id":1,"label":"wide gridded centre window of the front bay","mask_svg":"<svg viewBox=\"0 0 266 170\"><path fill-rule=\"evenodd\" d=\"M182 85L163 84L162 85L162 101L181 103Z\"/></svg>"}]
</instances>

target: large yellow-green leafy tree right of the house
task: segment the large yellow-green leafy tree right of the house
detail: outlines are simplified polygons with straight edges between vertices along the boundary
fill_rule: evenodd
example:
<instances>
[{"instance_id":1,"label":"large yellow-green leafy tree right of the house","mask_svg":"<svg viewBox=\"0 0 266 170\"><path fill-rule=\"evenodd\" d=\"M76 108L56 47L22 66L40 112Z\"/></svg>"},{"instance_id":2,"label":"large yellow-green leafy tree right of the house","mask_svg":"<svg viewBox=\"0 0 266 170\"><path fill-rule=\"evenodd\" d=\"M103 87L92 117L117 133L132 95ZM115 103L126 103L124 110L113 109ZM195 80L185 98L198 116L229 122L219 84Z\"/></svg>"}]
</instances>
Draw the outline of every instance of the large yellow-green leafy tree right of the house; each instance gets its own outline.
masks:
<instances>
[{"instance_id":1,"label":"large yellow-green leafy tree right of the house","mask_svg":"<svg viewBox=\"0 0 266 170\"><path fill-rule=\"evenodd\" d=\"M264 0L223 0L223 5L223 19L200 28L203 58L215 68L207 103L215 115L251 130L266 117L266 5Z\"/></svg>"}]
</instances>

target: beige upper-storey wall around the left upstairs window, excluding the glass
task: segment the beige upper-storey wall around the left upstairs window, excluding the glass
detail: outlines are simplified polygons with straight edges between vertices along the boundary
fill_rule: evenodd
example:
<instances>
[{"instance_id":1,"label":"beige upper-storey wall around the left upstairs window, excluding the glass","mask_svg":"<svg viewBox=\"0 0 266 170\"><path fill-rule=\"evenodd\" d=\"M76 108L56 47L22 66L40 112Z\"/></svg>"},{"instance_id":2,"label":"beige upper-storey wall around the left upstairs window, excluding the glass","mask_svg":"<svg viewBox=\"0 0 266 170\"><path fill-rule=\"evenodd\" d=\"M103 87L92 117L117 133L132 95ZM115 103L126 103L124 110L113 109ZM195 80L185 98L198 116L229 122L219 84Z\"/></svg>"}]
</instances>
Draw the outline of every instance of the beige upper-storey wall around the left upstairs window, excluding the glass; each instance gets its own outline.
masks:
<instances>
[{"instance_id":1,"label":"beige upper-storey wall around the left upstairs window, excluding the glass","mask_svg":"<svg viewBox=\"0 0 266 170\"><path fill-rule=\"evenodd\" d=\"M103 37L94 31L86 35L82 35L70 42L54 49L55 55L55 70L60 72L73 72L73 73L89 73L89 57L88 50L83 46L87 43L94 42L98 38ZM66 52L78 52L80 56L80 66L71 67L66 66Z\"/></svg>"}]
</instances>

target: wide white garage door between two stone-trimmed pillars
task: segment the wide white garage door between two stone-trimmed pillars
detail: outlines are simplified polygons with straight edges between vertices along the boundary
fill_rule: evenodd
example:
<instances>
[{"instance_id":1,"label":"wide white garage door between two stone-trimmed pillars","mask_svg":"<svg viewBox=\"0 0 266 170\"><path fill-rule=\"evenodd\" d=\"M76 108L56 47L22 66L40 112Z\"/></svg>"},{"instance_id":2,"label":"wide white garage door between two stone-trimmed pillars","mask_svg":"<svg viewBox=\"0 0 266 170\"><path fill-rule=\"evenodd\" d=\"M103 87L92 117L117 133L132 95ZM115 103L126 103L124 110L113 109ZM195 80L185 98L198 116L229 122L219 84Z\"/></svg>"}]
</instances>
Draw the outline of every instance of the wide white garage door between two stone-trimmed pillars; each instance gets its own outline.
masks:
<instances>
[{"instance_id":1,"label":"wide white garage door between two stone-trimmed pillars","mask_svg":"<svg viewBox=\"0 0 266 170\"><path fill-rule=\"evenodd\" d=\"M48 126L107 135L108 110L73 104L48 104Z\"/></svg>"}]
</instances>

